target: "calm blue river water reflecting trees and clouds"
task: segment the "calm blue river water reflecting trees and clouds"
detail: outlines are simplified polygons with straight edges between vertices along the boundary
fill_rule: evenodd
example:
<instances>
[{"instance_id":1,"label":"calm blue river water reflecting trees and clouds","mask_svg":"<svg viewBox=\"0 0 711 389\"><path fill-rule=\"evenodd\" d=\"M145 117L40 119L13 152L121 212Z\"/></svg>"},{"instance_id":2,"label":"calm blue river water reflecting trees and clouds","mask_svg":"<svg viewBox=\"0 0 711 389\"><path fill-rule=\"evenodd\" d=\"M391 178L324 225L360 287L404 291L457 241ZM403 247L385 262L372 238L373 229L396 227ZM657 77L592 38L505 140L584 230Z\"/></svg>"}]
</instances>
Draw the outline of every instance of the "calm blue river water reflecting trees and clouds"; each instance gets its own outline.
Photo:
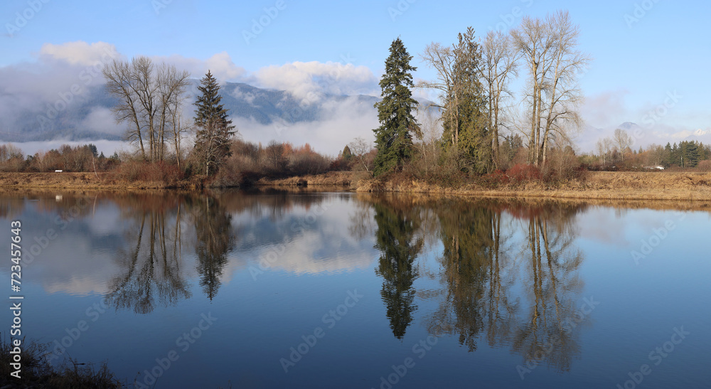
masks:
<instances>
[{"instance_id":1,"label":"calm blue river water reflecting trees and clouds","mask_svg":"<svg viewBox=\"0 0 711 389\"><path fill-rule=\"evenodd\" d=\"M708 212L58 192L0 215L23 335L138 388L711 385Z\"/></svg>"}]
</instances>

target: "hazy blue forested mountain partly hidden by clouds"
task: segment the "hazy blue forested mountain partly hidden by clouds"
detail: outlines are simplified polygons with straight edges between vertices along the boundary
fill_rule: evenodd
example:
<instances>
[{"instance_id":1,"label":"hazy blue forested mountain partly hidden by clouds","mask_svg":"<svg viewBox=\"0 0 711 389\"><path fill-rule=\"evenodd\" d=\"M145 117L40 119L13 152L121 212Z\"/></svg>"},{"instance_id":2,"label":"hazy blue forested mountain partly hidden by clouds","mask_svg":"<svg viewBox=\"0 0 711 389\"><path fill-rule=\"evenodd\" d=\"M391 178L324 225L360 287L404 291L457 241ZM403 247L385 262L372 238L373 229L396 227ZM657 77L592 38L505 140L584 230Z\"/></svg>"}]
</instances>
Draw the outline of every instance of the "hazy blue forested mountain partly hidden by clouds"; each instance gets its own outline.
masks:
<instances>
[{"instance_id":1,"label":"hazy blue forested mountain partly hidden by clouds","mask_svg":"<svg viewBox=\"0 0 711 389\"><path fill-rule=\"evenodd\" d=\"M198 85L198 80L191 80L188 102L195 101ZM3 90L0 87L1 93ZM275 123L288 125L333 119L334 107L342 107L344 110L355 107L360 116L365 114L370 117L372 113L377 122L373 104L380 100L368 95L323 95L318 100L303 102L284 90L267 90L237 82L225 83L220 94L233 121L242 125L255 124L255 127L260 128ZM86 92L73 97L69 102L56 100L54 105L28 105L11 115L0 117L0 141L123 139L125 124L117 125L111 113L111 108L117 102L103 85L97 85L87 88ZM431 102L424 100L422 104ZM192 114L193 107L188 105L186 115Z\"/></svg>"}]
</instances>

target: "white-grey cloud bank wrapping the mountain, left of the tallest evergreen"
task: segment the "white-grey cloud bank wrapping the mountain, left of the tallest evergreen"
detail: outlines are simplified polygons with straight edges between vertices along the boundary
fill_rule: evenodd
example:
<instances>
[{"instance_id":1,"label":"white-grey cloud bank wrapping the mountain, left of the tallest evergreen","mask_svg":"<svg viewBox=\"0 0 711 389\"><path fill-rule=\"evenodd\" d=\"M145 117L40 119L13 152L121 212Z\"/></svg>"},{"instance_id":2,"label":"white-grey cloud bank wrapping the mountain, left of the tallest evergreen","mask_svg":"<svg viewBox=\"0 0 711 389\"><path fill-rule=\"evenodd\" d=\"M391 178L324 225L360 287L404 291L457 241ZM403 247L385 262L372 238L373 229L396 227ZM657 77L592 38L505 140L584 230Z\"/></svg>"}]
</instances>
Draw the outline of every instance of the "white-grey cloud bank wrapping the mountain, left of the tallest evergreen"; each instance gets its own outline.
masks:
<instances>
[{"instance_id":1,"label":"white-grey cloud bank wrapping the mountain, left of the tallest evergreen","mask_svg":"<svg viewBox=\"0 0 711 389\"><path fill-rule=\"evenodd\" d=\"M115 124L109 110L92 103L85 107L87 97L92 96L87 91L101 88L105 82L101 74L102 64L113 58L129 59L114 45L105 42L46 43L39 50L36 61L0 67L0 130L21 132L14 137L29 139L29 133L23 132L22 128L32 124L36 131L40 131L41 123L30 123L27 117L49 117L48 112L59 107L56 110L61 112L90 109L89 114L76 123L77 128L122 134L123 126ZM267 66L250 73L237 66L226 52L215 53L207 59L182 55L150 58L154 63L166 62L188 70L193 78L201 78L209 69L221 82L246 82L257 87L285 90L297 97L302 107L319 107L320 116L315 121L289 125L284 131L277 131L275 126L255 124L250 119L234 118L245 139L253 142L269 142L271 139L294 144L309 142L321 152L335 153L355 137L373 139L371 130L378 127L372 101L365 102L358 97L338 101L324 99L326 95L380 95L378 77L363 65L294 62ZM72 92L75 85L80 87L76 94ZM197 91L191 89L191 92ZM252 95L235 97L242 97L247 102L255 98ZM192 110L188 104L186 114L191 116ZM33 133L33 136L37 134Z\"/></svg>"}]
</instances>

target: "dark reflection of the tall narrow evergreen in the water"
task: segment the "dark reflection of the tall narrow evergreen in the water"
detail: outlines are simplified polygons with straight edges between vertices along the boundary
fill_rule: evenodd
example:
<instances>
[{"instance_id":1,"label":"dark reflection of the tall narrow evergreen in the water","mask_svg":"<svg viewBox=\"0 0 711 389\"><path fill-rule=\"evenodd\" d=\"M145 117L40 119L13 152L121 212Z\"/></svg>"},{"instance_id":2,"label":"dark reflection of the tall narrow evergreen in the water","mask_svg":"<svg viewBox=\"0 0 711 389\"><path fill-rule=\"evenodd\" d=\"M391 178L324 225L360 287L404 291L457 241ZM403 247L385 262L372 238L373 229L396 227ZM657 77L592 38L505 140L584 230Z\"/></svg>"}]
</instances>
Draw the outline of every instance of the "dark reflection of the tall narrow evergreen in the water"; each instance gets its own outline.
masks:
<instances>
[{"instance_id":1,"label":"dark reflection of the tall narrow evergreen in the water","mask_svg":"<svg viewBox=\"0 0 711 389\"><path fill-rule=\"evenodd\" d=\"M376 273L383 277L380 296L387 307L392 334L402 339L417 309L412 288L417 270L412 264L423 244L422 238L414 239L419 222L412 211L376 203L375 223L375 248L381 253Z\"/></svg>"}]
</instances>

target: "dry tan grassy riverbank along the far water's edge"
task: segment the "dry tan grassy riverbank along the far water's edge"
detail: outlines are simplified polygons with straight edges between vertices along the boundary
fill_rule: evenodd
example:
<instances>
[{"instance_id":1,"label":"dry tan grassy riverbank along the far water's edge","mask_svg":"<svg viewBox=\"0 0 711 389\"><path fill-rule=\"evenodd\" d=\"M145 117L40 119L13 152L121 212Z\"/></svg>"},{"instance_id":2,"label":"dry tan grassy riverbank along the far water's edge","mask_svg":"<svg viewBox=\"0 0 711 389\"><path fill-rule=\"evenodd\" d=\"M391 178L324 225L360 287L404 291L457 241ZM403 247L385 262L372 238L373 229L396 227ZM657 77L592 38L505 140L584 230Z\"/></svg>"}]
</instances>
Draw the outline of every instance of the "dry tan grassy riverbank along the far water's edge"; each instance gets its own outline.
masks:
<instances>
[{"instance_id":1,"label":"dry tan grassy riverbank along the far water's edge","mask_svg":"<svg viewBox=\"0 0 711 389\"><path fill-rule=\"evenodd\" d=\"M457 188L449 188L402 175L390 179L361 178L356 181L353 180L353 173L336 171L280 179L262 178L254 185L260 188L345 188L364 193L404 192L477 197L711 201L711 173L690 172L588 171L579 178L562 183L528 181L499 183L495 186L464 183ZM0 188L117 191L171 187L154 181L117 181L109 178L108 174L3 173L0 174ZM178 188L191 190L202 188L202 184L197 180L181 182Z\"/></svg>"}]
</instances>

